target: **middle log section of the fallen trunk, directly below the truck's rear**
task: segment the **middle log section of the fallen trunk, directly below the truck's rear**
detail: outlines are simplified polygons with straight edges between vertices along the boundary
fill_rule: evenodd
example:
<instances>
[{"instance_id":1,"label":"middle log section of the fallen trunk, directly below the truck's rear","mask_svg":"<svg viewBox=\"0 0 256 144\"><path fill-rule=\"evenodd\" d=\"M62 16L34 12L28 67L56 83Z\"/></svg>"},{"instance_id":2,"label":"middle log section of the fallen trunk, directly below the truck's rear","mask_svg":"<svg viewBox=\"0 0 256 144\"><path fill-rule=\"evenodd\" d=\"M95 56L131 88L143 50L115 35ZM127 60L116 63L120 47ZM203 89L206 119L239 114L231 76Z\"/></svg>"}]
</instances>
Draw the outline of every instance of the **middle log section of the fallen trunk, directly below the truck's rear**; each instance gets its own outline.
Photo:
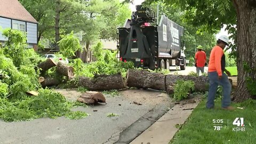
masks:
<instances>
[{"instance_id":1,"label":"middle log section of the fallen trunk, directly below the truck's rear","mask_svg":"<svg viewBox=\"0 0 256 144\"><path fill-rule=\"evenodd\" d=\"M151 73L147 70L129 69L126 76L128 87L139 89L155 89L165 91L165 75L161 73Z\"/></svg>"}]
</instances>

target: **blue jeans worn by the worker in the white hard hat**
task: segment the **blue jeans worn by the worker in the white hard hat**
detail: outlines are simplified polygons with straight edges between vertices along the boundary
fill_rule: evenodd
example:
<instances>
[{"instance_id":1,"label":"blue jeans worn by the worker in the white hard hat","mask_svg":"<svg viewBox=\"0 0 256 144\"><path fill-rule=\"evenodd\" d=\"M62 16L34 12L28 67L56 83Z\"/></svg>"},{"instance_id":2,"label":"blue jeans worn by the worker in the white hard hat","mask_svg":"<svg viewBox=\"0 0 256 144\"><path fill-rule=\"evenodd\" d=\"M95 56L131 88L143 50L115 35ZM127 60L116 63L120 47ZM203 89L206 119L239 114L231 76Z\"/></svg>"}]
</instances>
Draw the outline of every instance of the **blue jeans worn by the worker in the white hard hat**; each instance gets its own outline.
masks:
<instances>
[{"instance_id":1,"label":"blue jeans worn by the worker in the white hard hat","mask_svg":"<svg viewBox=\"0 0 256 144\"><path fill-rule=\"evenodd\" d=\"M226 108L230 105L230 92L231 92L231 84L229 82L228 76L225 73L222 73L222 78L218 79L218 74L216 71L208 73L210 87L208 92L208 98L206 102L206 108L214 107L214 98L218 89L218 85L222 86L223 98L221 106Z\"/></svg>"}]
</instances>

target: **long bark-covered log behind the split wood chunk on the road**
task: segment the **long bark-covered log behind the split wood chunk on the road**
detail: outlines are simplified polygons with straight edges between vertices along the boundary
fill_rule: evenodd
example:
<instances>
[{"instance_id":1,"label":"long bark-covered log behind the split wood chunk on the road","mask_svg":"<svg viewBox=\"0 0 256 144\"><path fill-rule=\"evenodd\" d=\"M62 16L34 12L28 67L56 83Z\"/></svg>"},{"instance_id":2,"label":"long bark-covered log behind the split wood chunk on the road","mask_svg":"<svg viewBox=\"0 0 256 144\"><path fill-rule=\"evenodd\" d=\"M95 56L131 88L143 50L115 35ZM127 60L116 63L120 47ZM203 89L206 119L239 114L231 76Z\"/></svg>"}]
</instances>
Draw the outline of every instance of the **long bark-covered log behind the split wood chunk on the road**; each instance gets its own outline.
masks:
<instances>
[{"instance_id":1,"label":"long bark-covered log behind the split wood chunk on the road","mask_svg":"<svg viewBox=\"0 0 256 144\"><path fill-rule=\"evenodd\" d=\"M126 85L121 74L97 75L94 78L78 77L78 80L71 81L70 87L85 87L90 91L105 91L125 89Z\"/></svg>"}]
</instances>

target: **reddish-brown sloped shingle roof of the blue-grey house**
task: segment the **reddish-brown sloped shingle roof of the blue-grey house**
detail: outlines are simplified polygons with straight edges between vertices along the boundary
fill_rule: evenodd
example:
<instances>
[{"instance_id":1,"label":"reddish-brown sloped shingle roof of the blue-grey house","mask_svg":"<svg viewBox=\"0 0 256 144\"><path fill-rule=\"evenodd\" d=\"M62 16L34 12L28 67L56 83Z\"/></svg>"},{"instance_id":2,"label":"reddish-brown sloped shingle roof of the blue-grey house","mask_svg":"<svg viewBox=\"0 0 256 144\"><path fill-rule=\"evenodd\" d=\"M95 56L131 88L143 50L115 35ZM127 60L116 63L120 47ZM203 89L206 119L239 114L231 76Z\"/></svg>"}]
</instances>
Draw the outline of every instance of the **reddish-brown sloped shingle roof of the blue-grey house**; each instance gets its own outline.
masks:
<instances>
[{"instance_id":1,"label":"reddish-brown sloped shingle roof of the blue-grey house","mask_svg":"<svg viewBox=\"0 0 256 144\"><path fill-rule=\"evenodd\" d=\"M18 0L0 0L0 17L38 23Z\"/></svg>"}]
</instances>

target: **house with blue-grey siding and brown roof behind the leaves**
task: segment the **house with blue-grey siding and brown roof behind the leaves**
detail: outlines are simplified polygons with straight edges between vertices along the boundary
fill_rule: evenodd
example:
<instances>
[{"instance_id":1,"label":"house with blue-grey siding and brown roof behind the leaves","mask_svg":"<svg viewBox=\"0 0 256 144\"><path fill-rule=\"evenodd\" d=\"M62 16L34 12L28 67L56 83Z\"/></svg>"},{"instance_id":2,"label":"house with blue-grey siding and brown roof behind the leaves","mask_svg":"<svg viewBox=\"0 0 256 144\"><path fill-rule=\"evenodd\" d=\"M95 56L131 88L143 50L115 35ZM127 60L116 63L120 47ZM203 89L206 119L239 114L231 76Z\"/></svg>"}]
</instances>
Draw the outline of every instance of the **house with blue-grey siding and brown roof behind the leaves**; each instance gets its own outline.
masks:
<instances>
[{"instance_id":1,"label":"house with blue-grey siding and brown roof behind the leaves","mask_svg":"<svg viewBox=\"0 0 256 144\"><path fill-rule=\"evenodd\" d=\"M18 0L0 0L0 27L26 31L28 48L34 48L35 51L37 51L37 24L35 18ZM0 42L6 40L0 31Z\"/></svg>"}]
</instances>

